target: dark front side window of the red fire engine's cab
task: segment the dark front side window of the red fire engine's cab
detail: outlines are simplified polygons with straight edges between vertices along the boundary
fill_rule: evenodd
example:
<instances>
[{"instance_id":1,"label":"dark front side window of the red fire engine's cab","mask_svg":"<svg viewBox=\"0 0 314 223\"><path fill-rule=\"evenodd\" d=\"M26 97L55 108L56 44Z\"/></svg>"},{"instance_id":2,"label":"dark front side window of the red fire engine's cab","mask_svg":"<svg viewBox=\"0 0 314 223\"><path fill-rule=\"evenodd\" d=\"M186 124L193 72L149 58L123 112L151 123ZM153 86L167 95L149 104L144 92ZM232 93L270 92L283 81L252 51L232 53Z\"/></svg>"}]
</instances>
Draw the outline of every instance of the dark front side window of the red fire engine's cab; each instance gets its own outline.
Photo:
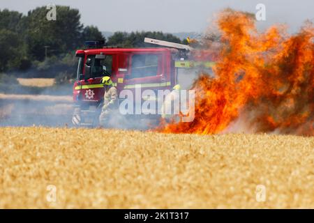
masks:
<instances>
[{"instance_id":1,"label":"dark front side window of the red fire engine's cab","mask_svg":"<svg viewBox=\"0 0 314 223\"><path fill-rule=\"evenodd\" d=\"M112 55L106 55L105 59L97 59L95 55L87 56L90 59L90 77L103 77L112 75Z\"/></svg>"}]
</instances>

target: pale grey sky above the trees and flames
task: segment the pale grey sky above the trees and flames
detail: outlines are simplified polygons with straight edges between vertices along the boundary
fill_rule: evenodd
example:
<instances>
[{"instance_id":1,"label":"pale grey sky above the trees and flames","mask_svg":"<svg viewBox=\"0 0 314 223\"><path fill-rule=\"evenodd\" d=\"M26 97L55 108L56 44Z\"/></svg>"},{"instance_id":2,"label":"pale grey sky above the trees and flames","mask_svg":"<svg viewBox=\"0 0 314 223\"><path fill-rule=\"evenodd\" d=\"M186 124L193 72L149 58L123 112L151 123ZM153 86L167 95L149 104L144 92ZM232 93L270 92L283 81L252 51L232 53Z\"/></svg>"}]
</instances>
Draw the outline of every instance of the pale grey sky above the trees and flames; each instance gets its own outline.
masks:
<instances>
[{"instance_id":1,"label":"pale grey sky above the trees and flames","mask_svg":"<svg viewBox=\"0 0 314 223\"><path fill-rule=\"evenodd\" d=\"M314 0L0 0L0 9L27 14L48 3L79 9L82 23L100 31L202 32L219 10L256 13L257 3L266 6L266 21L257 22L260 28L284 23L294 32L314 18Z\"/></svg>"}]
</instances>

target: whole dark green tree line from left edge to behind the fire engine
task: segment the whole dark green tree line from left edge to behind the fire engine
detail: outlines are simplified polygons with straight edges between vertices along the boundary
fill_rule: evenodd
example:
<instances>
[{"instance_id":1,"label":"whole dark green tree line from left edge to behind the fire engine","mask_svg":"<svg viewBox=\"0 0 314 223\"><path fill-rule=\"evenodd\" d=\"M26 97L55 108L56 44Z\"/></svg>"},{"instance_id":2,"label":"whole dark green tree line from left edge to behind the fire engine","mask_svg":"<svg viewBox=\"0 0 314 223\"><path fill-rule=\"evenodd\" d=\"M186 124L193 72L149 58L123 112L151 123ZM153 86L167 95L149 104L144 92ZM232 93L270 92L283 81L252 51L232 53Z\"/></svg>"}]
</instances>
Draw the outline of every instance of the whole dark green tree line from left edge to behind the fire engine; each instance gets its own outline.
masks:
<instances>
[{"instance_id":1,"label":"whole dark green tree line from left edge to behind the fire engine","mask_svg":"<svg viewBox=\"0 0 314 223\"><path fill-rule=\"evenodd\" d=\"M75 49L85 40L105 40L118 47L151 47L145 37L183 43L163 32L116 32L108 40L96 26L84 26L80 12L69 6L57 6L57 20L47 20L46 6L27 15L0 10L0 72L27 77L66 79L75 75Z\"/></svg>"}]
</instances>

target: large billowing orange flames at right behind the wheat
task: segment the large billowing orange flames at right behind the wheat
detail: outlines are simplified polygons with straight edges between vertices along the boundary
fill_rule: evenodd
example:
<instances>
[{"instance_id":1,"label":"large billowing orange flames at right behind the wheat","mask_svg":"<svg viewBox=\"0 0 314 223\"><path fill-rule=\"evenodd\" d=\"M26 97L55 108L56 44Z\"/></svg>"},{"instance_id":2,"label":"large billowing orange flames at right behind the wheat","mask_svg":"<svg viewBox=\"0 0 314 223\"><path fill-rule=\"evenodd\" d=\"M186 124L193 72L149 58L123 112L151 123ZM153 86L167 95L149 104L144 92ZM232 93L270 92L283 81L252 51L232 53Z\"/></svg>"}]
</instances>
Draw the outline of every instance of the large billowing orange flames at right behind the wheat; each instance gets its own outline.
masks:
<instances>
[{"instance_id":1,"label":"large billowing orange flames at right behind the wheat","mask_svg":"<svg viewBox=\"0 0 314 223\"><path fill-rule=\"evenodd\" d=\"M167 123L162 132L278 132L314 135L314 28L290 36L283 26L264 33L254 17L224 10L214 77L193 84L195 119Z\"/></svg>"}]
</instances>

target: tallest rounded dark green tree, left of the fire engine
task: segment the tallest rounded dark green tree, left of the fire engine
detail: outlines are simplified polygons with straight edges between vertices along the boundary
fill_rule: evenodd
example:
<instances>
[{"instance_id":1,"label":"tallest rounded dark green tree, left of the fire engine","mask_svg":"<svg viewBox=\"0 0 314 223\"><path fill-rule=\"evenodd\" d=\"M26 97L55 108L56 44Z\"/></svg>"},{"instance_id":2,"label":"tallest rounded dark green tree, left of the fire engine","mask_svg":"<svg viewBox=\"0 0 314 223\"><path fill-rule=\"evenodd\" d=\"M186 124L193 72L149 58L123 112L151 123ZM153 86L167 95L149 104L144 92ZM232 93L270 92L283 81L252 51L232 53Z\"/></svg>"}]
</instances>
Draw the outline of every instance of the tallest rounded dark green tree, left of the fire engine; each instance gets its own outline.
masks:
<instances>
[{"instance_id":1,"label":"tallest rounded dark green tree, left of the fire engine","mask_svg":"<svg viewBox=\"0 0 314 223\"><path fill-rule=\"evenodd\" d=\"M45 59L45 47L49 56L74 50L81 41L83 25L80 13L69 6L57 6L57 20L47 20L45 6L29 11L26 40L29 53L37 60Z\"/></svg>"}]
</instances>

